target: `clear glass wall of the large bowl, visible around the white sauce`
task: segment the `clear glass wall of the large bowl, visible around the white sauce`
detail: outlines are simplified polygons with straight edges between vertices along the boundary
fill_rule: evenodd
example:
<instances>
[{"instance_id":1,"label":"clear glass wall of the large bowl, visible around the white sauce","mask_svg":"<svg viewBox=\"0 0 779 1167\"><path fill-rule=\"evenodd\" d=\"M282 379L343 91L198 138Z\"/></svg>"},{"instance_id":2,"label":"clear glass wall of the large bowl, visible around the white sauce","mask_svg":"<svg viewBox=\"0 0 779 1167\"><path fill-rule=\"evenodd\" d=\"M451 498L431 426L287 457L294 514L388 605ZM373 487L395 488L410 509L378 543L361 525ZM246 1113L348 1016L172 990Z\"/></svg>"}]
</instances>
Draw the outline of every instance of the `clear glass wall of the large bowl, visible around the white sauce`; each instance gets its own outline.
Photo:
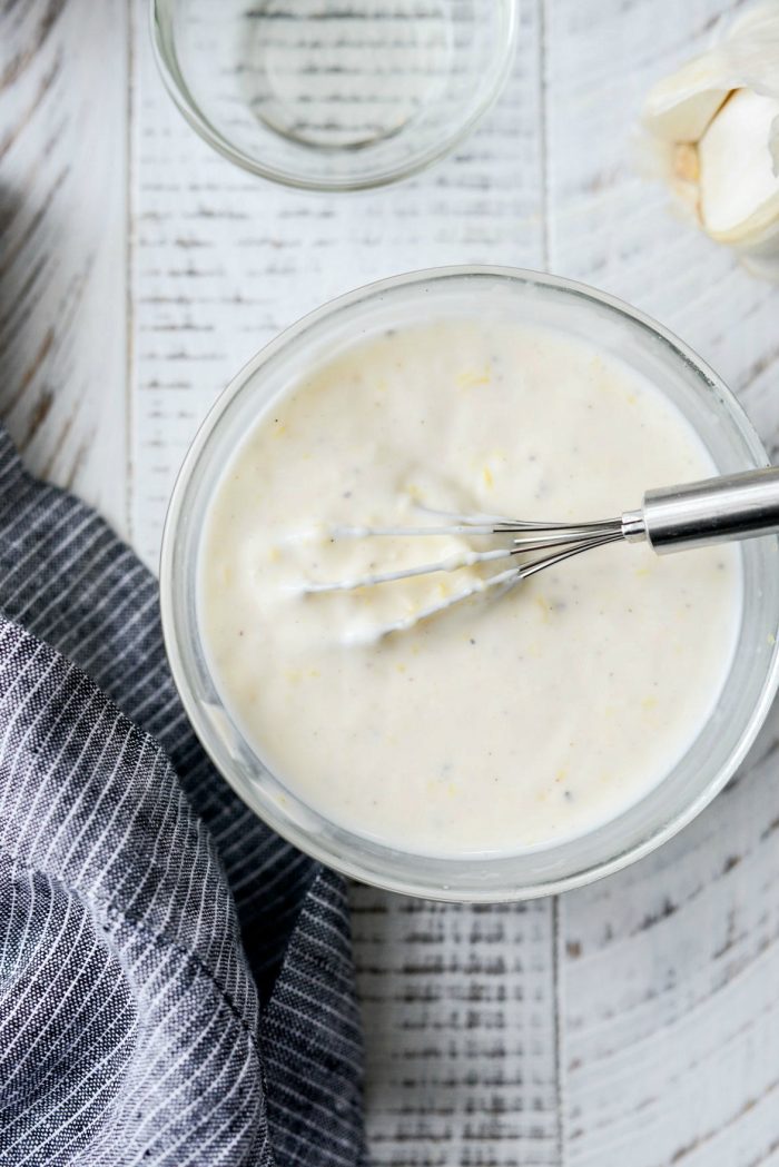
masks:
<instances>
[{"instance_id":1,"label":"clear glass wall of the large bowl, visible around the white sauce","mask_svg":"<svg viewBox=\"0 0 779 1167\"><path fill-rule=\"evenodd\" d=\"M467 858L406 853L361 837L306 805L270 773L234 722L209 672L197 621L207 508L259 411L339 349L425 316L484 313L596 342L649 377L687 417L723 473L767 464L726 386L690 349L641 313L570 280L513 268L452 267L399 275L342 296L287 329L222 393L187 454L166 520L161 609L171 668L189 719L238 795L273 830L339 871L410 895L519 900L587 882L647 854L722 789L763 722L779 679L777 538L745 541L742 627L721 698L687 754L640 802L578 838Z\"/></svg>"}]
</instances>

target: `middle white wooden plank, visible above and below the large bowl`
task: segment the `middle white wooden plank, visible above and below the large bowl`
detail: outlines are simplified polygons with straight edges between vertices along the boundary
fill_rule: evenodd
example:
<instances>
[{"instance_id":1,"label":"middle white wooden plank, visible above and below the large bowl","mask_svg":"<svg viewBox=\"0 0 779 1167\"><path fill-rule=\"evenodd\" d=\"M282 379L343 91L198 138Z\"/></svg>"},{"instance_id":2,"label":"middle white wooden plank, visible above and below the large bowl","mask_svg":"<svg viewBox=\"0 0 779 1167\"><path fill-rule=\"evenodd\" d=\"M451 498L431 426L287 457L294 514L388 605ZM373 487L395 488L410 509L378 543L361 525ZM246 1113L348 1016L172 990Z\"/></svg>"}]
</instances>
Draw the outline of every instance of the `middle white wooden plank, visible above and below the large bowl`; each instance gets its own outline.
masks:
<instances>
[{"instance_id":1,"label":"middle white wooden plank, visible above and below the large bowl","mask_svg":"<svg viewBox=\"0 0 779 1167\"><path fill-rule=\"evenodd\" d=\"M509 88L458 156L359 196L294 194L213 154L137 30L132 505L149 562L199 421L281 328L405 270L543 266L537 6L522 8ZM551 902L458 909L354 888L353 907L374 1161L556 1163Z\"/></svg>"}]
</instances>

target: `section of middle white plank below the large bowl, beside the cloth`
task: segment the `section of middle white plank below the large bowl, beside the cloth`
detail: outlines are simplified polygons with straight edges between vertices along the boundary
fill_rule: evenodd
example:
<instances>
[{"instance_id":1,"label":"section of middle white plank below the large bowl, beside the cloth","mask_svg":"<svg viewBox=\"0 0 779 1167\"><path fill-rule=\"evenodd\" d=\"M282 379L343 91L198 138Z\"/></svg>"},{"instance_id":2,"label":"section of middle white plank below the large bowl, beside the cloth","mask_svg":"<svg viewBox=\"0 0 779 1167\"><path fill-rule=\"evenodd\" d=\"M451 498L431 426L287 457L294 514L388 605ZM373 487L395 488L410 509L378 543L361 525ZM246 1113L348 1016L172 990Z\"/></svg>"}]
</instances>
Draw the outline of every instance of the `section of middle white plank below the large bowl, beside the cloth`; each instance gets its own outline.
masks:
<instances>
[{"instance_id":1,"label":"section of middle white plank below the large bowl, beside the cloth","mask_svg":"<svg viewBox=\"0 0 779 1167\"><path fill-rule=\"evenodd\" d=\"M355 886L352 920L376 1167L558 1163L549 901Z\"/></svg>"}]
</instances>

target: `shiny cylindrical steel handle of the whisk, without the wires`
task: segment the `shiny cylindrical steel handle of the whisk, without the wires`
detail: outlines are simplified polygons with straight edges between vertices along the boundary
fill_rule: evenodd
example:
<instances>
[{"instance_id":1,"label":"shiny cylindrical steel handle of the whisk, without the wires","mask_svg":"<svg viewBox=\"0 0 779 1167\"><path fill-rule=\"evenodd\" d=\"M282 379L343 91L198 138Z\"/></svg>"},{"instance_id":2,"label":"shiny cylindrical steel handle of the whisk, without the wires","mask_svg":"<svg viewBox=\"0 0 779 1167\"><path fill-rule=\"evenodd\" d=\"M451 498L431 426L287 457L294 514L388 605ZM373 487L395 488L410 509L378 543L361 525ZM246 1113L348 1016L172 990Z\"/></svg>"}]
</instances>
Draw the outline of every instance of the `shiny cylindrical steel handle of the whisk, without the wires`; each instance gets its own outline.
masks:
<instances>
[{"instance_id":1,"label":"shiny cylindrical steel handle of the whisk, without the wires","mask_svg":"<svg viewBox=\"0 0 779 1167\"><path fill-rule=\"evenodd\" d=\"M730 474L648 490L641 510L622 516L626 539L660 554L779 532L779 468Z\"/></svg>"}]
</instances>

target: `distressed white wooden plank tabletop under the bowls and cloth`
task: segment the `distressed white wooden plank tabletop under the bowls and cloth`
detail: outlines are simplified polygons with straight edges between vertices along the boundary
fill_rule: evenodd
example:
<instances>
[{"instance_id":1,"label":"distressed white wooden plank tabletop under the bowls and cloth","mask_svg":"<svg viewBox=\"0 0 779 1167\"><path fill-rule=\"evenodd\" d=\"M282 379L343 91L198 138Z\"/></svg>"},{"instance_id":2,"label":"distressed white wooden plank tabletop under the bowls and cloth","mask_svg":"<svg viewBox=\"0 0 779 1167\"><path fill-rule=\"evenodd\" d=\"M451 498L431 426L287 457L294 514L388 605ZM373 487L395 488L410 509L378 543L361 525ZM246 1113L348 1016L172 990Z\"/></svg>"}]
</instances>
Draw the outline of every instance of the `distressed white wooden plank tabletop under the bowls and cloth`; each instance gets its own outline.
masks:
<instances>
[{"instance_id":1,"label":"distressed white wooden plank tabletop under the bowls and cloth","mask_svg":"<svg viewBox=\"0 0 779 1167\"><path fill-rule=\"evenodd\" d=\"M215 0L216 2L216 0ZM151 565L197 424L304 312L502 263L587 280L689 341L779 453L779 292L633 170L641 95L728 0L522 0L514 76L406 186L295 195L173 109L142 0L0 9L0 414ZM779 1163L779 720L655 855L527 906L353 892L376 1165Z\"/></svg>"}]
</instances>

